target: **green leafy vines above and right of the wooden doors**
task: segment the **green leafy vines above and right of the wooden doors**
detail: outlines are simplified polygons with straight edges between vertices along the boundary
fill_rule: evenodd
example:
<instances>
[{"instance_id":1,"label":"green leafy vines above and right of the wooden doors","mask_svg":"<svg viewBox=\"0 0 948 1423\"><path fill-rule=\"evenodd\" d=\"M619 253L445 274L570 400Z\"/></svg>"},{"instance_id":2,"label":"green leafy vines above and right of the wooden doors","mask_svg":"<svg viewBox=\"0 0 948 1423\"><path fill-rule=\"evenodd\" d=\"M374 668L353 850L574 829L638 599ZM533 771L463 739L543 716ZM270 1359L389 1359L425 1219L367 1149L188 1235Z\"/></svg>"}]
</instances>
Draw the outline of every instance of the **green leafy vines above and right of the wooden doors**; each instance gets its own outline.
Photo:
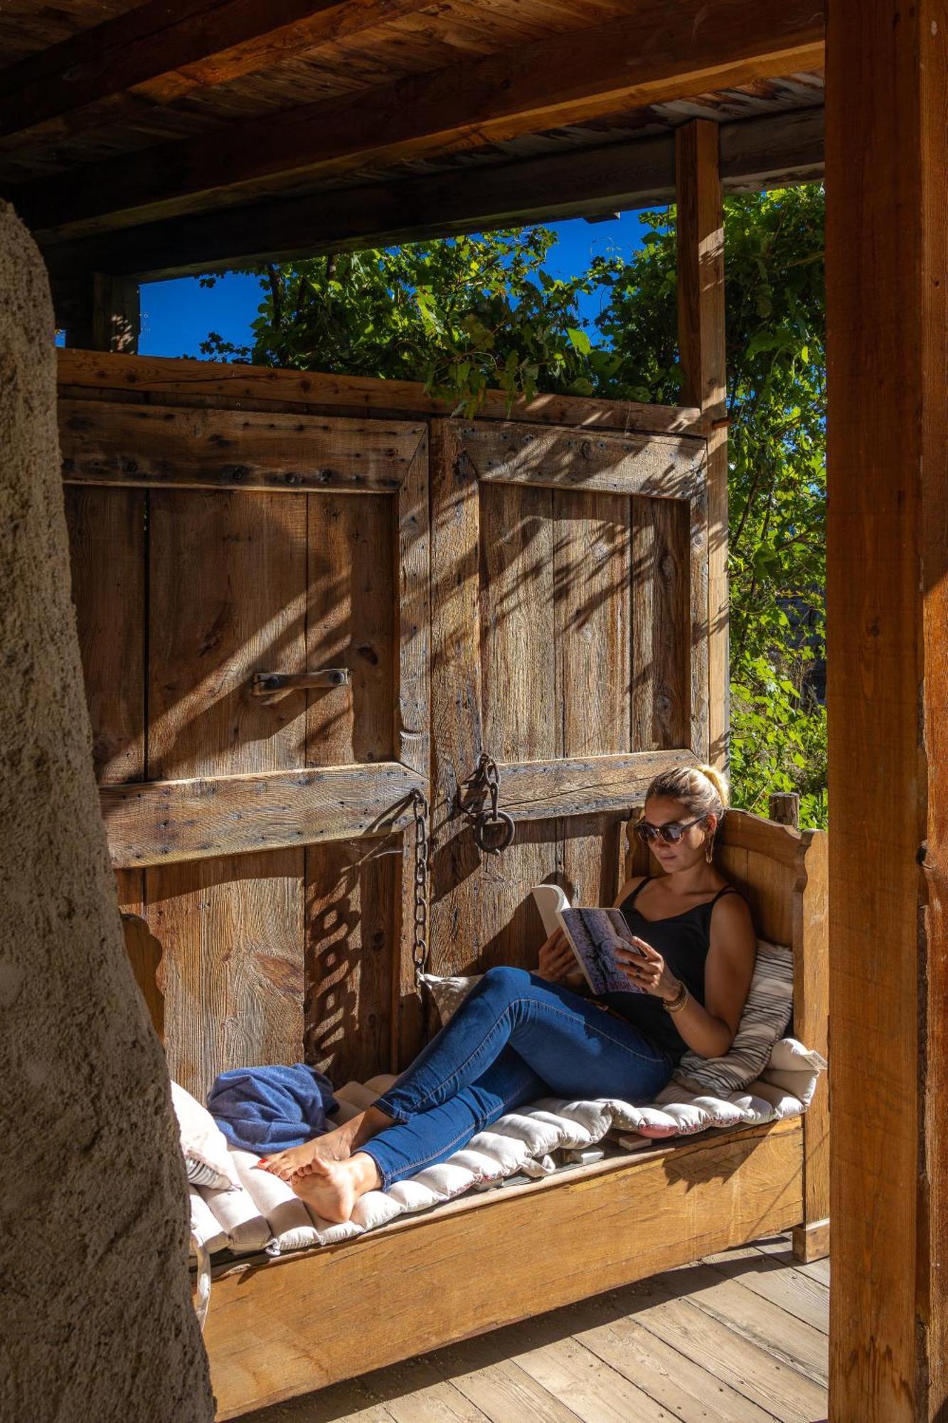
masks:
<instances>
[{"instance_id":1,"label":"green leafy vines above and right of the wooden doors","mask_svg":"<svg viewBox=\"0 0 948 1423\"><path fill-rule=\"evenodd\" d=\"M734 804L766 811L770 791L799 790L809 825L827 820L813 690L826 655L823 212L820 186L725 205ZM270 266L255 344L212 334L204 349L423 380L467 414L488 386L511 403L542 390L675 404L675 213L642 221L628 260L598 258L567 280L544 268L545 228ZM578 296L596 289L591 330Z\"/></svg>"}]
</instances>

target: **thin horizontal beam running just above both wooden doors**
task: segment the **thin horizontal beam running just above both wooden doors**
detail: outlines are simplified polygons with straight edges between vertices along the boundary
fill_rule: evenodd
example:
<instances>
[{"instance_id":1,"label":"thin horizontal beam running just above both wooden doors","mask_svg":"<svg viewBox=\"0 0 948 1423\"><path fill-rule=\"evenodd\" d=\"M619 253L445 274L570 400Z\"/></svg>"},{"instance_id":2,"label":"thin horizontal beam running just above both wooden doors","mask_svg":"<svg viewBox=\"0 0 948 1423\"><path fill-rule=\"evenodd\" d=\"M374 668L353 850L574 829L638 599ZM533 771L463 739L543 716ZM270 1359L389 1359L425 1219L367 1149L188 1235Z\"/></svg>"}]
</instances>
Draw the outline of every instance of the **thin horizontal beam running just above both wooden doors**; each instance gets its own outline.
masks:
<instances>
[{"instance_id":1,"label":"thin horizontal beam running just above both wooden doors","mask_svg":"<svg viewBox=\"0 0 948 1423\"><path fill-rule=\"evenodd\" d=\"M208 396L228 400L288 401L306 406L352 406L363 411L444 416L448 407L430 396L420 381L374 380L362 376L326 376L313 371L278 370L269 366L228 366L206 360L169 360L149 356L102 356L98 351L57 350L58 380L63 386L88 391L122 390L142 394ZM638 401L588 400L582 396L537 396L514 403L517 421L575 425L589 430L655 431L656 434L705 435L696 408L645 406ZM488 390L478 420L510 420L507 397Z\"/></svg>"}]
</instances>

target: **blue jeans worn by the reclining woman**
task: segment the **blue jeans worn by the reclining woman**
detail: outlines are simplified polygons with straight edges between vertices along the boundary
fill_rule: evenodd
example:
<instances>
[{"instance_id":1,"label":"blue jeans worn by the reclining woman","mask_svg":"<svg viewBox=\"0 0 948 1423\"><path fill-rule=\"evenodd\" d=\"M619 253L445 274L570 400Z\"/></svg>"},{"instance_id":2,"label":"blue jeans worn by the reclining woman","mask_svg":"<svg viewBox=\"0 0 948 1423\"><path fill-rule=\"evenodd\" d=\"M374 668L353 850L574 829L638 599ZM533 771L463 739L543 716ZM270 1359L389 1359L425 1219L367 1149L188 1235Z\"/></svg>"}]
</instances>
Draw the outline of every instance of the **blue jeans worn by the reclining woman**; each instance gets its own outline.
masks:
<instances>
[{"instance_id":1,"label":"blue jeans worn by the reclining woman","mask_svg":"<svg viewBox=\"0 0 948 1423\"><path fill-rule=\"evenodd\" d=\"M537 1097L652 1101L673 1060L631 1023L525 969L488 969L376 1106L394 1126L360 1147L381 1187L460 1151Z\"/></svg>"}]
</instances>

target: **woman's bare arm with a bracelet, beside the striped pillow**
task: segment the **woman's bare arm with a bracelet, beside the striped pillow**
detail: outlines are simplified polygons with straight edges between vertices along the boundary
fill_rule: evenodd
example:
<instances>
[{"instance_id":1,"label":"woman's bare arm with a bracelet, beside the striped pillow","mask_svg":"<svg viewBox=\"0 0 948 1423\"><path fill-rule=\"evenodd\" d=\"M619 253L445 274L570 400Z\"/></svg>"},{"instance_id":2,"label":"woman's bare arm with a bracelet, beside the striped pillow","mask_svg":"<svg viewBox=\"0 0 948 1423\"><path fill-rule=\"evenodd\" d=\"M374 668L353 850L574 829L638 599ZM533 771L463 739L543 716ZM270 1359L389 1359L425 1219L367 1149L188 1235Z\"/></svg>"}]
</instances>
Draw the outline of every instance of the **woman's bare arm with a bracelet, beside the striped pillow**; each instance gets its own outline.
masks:
<instances>
[{"instance_id":1,"label":"woman's bare arm with a bracelet, beside the striped pillow","mask_svg":"<svg viewBox=\"0 0 948 1423\"><path fill-rule=\"evenodd\" d=\"M633 955L621 955L623 968L633 982L666 1003L673 1002L680 980L670 972L660 953L636 938L646 962ZM757 955L750 909L740 895L725 895L712 911L710 948L705 963L705 1005L688 996L685 1007L675 1013L675 1026L700 1057L723 1057L734 1040L740 1015L747 999Z\"/></svg>"}]
</instances>

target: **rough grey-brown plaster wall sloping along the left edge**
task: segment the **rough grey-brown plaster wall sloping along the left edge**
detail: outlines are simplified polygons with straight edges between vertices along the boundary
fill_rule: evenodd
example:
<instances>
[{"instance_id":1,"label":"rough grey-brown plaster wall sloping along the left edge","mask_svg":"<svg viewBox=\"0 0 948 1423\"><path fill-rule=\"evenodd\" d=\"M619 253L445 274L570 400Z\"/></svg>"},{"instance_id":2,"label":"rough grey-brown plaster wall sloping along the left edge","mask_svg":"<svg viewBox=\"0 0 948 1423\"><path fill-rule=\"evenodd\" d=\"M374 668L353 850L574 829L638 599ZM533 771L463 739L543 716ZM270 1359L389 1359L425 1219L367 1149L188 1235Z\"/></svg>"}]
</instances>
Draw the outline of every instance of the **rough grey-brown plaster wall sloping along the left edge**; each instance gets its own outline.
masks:
<instances>
[{"instance_id":1,"label":"rough grey-brown plaster wall sloping along the left edge","mask_svg":"<svg viewBox=\"0 0 948 1423\"><path fill-rule=\"evenodd\" d=\"M93 780L40 253L0 202L0 1417L212 1419L168 1074Z\"/></svg>"}]
</instances>

